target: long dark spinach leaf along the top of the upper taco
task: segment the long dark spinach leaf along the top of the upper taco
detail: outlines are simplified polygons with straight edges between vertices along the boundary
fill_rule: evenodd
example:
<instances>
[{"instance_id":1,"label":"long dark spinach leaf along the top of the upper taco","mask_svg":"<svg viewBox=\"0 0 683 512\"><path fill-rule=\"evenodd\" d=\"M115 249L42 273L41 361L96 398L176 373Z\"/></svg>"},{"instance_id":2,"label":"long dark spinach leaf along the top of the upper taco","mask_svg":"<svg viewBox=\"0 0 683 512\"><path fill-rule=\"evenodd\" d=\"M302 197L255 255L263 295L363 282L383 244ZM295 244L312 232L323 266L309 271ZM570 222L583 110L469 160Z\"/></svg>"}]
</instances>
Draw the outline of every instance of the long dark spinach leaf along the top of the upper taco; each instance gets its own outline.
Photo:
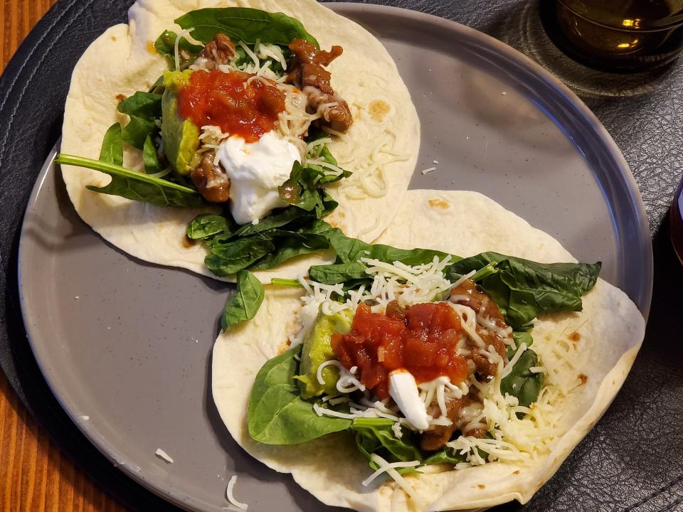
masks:
<instances>
[{"instance_id":1,"label":"long dark spinach leaf along the top of the upper taco","mask_svg":"<svg viewBox=\"0 0 683 512\"><path fill-rule=\"evenodd\" d=\"M211 41L216 33L225 33L237 43L244 41L278 46L289 46L292 39L304 39L320 48L302 23L282 13L268 13L246 7L226 7L223 9L198 9L176 19L182 28L192 28L192 37L202 43Z\"/></svg>"}]
</instances>

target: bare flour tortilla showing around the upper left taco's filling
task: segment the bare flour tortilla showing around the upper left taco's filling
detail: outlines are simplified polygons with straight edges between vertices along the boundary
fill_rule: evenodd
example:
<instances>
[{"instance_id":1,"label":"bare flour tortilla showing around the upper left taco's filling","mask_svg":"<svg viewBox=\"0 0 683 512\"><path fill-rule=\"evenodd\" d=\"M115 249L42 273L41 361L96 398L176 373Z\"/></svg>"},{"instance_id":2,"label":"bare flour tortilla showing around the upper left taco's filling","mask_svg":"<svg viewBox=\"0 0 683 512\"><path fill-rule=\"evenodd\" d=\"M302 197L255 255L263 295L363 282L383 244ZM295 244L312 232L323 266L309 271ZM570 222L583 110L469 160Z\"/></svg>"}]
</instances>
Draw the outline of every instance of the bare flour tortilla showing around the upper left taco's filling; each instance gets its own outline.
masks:
<instances>
[{"instance_id":1,"label":"bare flour tortilla showing around the upper left taco's filling","mask_svg":"<svg viewBox=\"0 0 683 512\"><path fill-rule=\"evenodd\" d=\"M166 28L179 31L173 20L188 11L228 6L284 12L302 21L321 48L334 44L344 48L329 70L332 86L351 107L354 124L344 137L335 137L329 149L344 169L354 173L353 180L372 164L385 162L381 170L388 192L354 199L349 195L357 196L356 188L349 187L350 182L339 183L329 189L339 208L326 220L349 236L374 240L393 218L401 205L398 199L408 188L418 155L420 122L396 64L381 43L314 0L138 0L128 11L129 24L109 28L78 61L66 100L61 151L97 159L107 128L127 122L127 116L117 113L117 97L147 90L167 68L166 60L150 49L159 34ZM373 154L380 159L373 159ZM139 166L139 151L127 149L125 164ZM216 277L203 265L206 248L188 247L184 238L187 223L203 210L160 208L88 191L87 185L109 183L111 178L98 171L63 166L62 174L76 211L105 240L142 260ZM310 265L333 259L331 252L318 253L256 274L263 282L297 277Z\"/></svg>"}]
</instances>

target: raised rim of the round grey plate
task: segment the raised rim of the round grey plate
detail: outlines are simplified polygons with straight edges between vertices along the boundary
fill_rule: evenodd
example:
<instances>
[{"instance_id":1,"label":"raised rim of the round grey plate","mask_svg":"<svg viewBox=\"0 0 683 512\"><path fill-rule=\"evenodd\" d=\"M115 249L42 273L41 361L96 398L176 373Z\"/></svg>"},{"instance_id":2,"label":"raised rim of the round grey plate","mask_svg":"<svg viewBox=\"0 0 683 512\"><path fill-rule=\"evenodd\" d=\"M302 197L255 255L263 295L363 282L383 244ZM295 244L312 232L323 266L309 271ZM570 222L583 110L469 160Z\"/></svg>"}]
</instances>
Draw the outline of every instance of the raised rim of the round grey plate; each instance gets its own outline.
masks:
<instances>
[{"instance_id":1,"label":"raised rim of the round grey plate","mask_svg":"<svg viewBox=\"0 0 683 512\"><path fill-rule=\"evenodd\" d=\"M645 279L646 289L644 290L645 295L640 297L640 304L636 302L636 305L638 306L642 315L647 321L647 317L650 312L650 305L652 302L654 266L652 244L649 234L649 226L647 224L647 213L645 212L645 206L642 203L640 188L637 186L635 178L633 177L632 172L630 171L630 167L628 166L625 157L618 148L617 144L614 142L613 138L608 133L607 129L603 127L603 124L601 124L598 118L595 117L595 114L593 114L593 112L573 91L571 91L566 85L563 84L563 82L561 82L558 78L552 75L548 70L543 68L538 63L534 62L534 60L531 60L531 58L527 57L523 53L519 52L518 50L512 48L511 46L507 45L506 43L503 43L502 41L499 41L498 39L492 36L477 31L475 28L463 25L462 23L457 23L456 21L441 18L440 16L435 16L433 14L427 14L420 11L413 11L412 9L404 9L401 7L386 6L381 4L359 4L356 2L323 2L323 5L329 9L332 9L332 11L342 16L344 16L347 13L369 13L374 16L386 16L388 14L391 14L393 16L413 19L428 24L435 24L437 26L440 26L441 28L445 28L445 30L447 31L460 32L467 38L470 38L474 41L479 41L483 45L489 48L493 48L496 53L505 55L510 60L517 61L517 63L523 64L524 66L526 66L526 68L528 68L527 72L539 76L544 80L544 82L548 83L549 86L558 89L563 95L568 97L568 100L571 101L571 104L577 108L578 112L581 112L581 114L583 114L583 117L591 124L593 129L595 129L598 132L598 134L600 135L600 140L603 143L603 146L605 146L605 149L608 149L608 153L612 157L615 164L618 165L618 168L621 171L620 176L625 180L625 184L628 186L627 188L630 193L631 203L633 206L635 206L635 210L637 213L637 226L638 232L641 235L641 242L645 242L645 240L643 240L643 234L645 234L645 238L647 239L647 244L645 245L645 247L642 247L642 249L644 249L642 251L642 256L644 258L643 263L647 270L647 277ZM71 410L69 407L65 406L63 398L59 393L57 393L57 389L55 388L55 385L53 385L53 379L50 377L50 375L53 372L51 370L46 371L47 361L41 360L41 357L39 356L40 351L36 351L36 345L33 342L32 336L33 328L31 327L31 324L28 322L31 313L27 312L30 309L30 307L26 305L26 299L23 294L21 279L21 268L23 266L22 262L24 260L22 258L22 252L26 243L26 237L24 236L27 225L26 218L28 215L28 211L31 209L33 203L35 203L36 196L38 196L38 193L41 190L42 183L46 179L48 170L55 165L53 163L53 159L55 157L57 151L56 148L58 147L59 143L60 139L58 140L58 142L55 143L53 149L51 149L50 153L48 154L46 160L43 163L43 166L41 167L41 171L39 172L38 176L36 176L36 181L33 184L31 195L28 198L26 211L24 212L23 218L21 220L16 275L18 284L19 304L21 306L21 319L26 328L26 334L28 342L31 346L31 351L33 352L33 356L36 358L38 367L40 368L41 373L43 373L43 377L45 378L46 383L48 383L48 386L53 395L55 396L56 400L58 400L62 409L70 417L70 419L73 421L74 425L78 428L78 430L82 432L83 435L85 435L88 441L108 460L110 460L112 464L117 464L117 459L114 454L115 450L112 449L113 447L110 446L110 443L108 443L104 437L97 435L97 432L90 432L90 429L84 428L86 427L86 425L84 425L83 422L78 422L76 420L76 412ZM192 496L177 493L176 491L174 491L174 489L171 488L155 486L152 483L152 481L145 479L138 472L134 471L131 467L129 467L128 464L118 465L118 468L124 474L129 476L129 478L131 478L134 482L143 486L145 489L152 491L154 494L160 496L164 500L169 501L169 503L172 503L175 506L179 506L189 511L194 510L194 508L191 507L193 506L196 500Z\"/></svg>"}]
</instances>

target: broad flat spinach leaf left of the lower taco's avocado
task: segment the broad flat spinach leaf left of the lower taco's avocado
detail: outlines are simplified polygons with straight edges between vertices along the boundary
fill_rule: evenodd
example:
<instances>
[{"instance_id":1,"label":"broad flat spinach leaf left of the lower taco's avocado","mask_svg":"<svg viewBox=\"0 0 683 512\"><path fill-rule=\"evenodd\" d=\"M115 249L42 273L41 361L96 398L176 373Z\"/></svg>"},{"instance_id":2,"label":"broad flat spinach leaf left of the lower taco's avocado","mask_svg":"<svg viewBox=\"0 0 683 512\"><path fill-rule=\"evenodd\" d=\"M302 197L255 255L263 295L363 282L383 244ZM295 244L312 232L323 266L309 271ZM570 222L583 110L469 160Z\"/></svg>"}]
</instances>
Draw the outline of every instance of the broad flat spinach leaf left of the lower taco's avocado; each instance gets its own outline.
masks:
<instances>
[{"instance_id":1,"label":"broad flat spinach leaf left of the lower taco's avocado","mask_svg":"<svg viewBox=\"0 0 683 512\"><path fill-rule=\"evenodd\" d=\"M348 430L351 420L318 416L313 401L302 400L294 376L298 373L297 345L266 361L258 371L249 397L250 436L265 444L299 444L331 432Z\"/></svg>"}]
</instances>

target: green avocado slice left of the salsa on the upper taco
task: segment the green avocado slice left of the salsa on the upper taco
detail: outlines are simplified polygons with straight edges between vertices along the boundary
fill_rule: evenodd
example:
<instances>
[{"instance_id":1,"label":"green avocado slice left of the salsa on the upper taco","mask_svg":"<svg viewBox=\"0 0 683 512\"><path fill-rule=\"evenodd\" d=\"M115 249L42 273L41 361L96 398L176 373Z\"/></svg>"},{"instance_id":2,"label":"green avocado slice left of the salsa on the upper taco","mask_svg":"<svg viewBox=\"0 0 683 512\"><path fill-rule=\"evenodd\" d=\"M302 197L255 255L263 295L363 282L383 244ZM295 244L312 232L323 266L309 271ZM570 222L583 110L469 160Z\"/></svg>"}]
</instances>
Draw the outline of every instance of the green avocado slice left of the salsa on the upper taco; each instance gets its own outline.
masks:
<instances>
[{"instance_id":1,"label":"green avocado slice left of the salsa on the upper taco","mask_svg":"<svg viewBox=\"0 0 683 512\"><path fill-rule=\"evenodd\" d=\"M162 140L164 152L171 166L179 174L188 174L192 159L199 148L199 129L178 113L178 89L187 81L191 71L166 71L162 97Z\"/></svg>"}]
</instances>

